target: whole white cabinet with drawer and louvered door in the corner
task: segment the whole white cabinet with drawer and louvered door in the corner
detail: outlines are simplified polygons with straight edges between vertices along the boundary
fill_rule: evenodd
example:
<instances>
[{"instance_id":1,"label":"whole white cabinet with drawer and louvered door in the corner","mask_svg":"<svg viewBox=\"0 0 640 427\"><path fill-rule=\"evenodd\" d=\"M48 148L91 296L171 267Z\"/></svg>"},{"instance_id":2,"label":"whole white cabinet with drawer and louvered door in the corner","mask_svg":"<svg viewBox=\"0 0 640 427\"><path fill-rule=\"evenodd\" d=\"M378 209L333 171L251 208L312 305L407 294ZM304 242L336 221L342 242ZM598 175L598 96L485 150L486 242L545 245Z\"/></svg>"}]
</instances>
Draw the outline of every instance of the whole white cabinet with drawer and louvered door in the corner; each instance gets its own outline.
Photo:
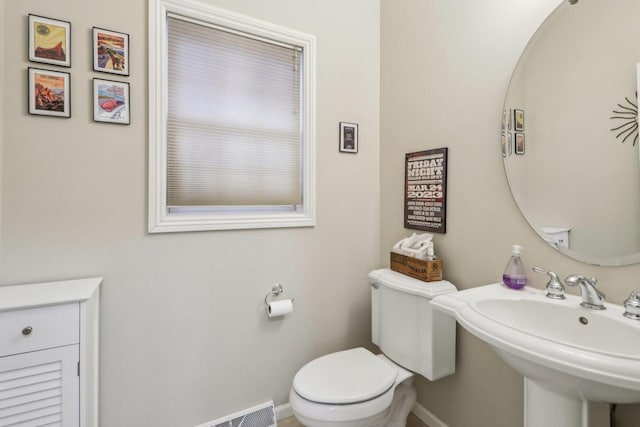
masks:
<instances>
[{"instance_id":1,"label":"whole white cabinet with drawer and louvered door in the corner","mask_svg":"<svg viewBox=\"0 0 640 427\"><path fill-rule=\"evenodd\" d=\"M0 427L98 426L101 283L0 287Z\"/></svg>"}]
</instances>

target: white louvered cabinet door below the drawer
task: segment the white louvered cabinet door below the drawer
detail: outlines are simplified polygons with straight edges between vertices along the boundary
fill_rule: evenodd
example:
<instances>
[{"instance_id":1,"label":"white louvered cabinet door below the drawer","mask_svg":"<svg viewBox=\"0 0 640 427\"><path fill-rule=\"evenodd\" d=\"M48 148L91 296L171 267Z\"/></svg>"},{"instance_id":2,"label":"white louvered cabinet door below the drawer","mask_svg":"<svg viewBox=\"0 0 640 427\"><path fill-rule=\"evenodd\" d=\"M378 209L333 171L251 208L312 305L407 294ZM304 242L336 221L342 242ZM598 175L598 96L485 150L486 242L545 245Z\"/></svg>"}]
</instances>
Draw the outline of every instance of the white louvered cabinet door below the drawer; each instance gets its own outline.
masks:
<instances>
[{"instance_id":1,"label":"white louvered cabinet door below the drawer","mask_svg":"<svg viewBox=\"0 0 640 427\"><path fill-rule=\"evenodd\" d=\"M77 427L79 346L0 357L0 427Z\"/></svg>"}]
</instances>

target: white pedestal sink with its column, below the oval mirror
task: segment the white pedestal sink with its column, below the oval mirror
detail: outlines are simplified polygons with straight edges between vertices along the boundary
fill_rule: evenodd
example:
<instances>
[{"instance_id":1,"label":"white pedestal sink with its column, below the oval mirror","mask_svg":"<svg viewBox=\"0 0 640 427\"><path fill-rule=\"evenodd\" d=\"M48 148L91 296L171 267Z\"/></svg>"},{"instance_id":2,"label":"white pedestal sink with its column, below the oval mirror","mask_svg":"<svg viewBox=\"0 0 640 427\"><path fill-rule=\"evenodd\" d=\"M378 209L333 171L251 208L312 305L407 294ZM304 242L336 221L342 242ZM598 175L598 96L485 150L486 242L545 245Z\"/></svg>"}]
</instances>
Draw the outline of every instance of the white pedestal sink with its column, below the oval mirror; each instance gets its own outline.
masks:
<instances>
[{"instance_id":1,"label":"white pedestal sink with its column, below the oval mirror","mask_svg":"<svg viewBox=\"0 0 640 427\"><path fill-rule=\"evenodd\" d=\"M525 427L587 427L587 402L640 402L640 321L501 283L441 295L456 318L525 377Z\"/></svg>"}]
</instances>

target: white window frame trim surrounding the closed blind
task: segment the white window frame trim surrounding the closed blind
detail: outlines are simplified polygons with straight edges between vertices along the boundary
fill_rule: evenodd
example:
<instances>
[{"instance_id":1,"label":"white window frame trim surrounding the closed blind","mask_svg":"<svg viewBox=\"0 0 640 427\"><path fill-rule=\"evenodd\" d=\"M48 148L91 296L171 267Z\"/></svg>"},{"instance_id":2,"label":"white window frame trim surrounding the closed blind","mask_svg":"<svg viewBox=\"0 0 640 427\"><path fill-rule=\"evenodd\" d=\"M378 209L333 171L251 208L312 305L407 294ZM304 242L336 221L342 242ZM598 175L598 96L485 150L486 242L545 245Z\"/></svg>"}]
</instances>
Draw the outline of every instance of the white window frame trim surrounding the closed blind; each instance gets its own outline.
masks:
<instances>
[{"instance_id":1,"label":"white window frame trim surrounding the closed blind","mask_svg":"<svg viewBox=\"0 0 640 427\"><path fill-rule=\"evenodd\" d=\"M210 22L303 50L302 204L239 209L179 209L167 206L167 14ZM315 195L315 37L194 0L149 0L149 232L312 227Z\"/></svg>"}]
</instances>

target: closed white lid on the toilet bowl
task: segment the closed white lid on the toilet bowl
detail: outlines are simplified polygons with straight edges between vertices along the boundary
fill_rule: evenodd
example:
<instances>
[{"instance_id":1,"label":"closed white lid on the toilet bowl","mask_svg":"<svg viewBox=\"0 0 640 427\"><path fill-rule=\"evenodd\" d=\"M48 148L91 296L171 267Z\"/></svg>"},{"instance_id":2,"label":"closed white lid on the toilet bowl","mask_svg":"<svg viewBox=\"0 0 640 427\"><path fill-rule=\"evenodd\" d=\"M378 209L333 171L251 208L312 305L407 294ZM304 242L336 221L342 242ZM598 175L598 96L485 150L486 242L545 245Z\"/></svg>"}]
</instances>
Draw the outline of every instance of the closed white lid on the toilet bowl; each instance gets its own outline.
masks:
<instances>
[{"instance_id":1,"label":"closed white lid on the toilet bowl","mask_svg":"<svg viewBox=\"0 0 640 427\"><path fill-rule=\"evenodd\" d=\"M293 389L313 402L358 403L389 390L397 375L396 369L370 351L354 348L307 363L293 378Z\"/></svg>"}]
</instances>

